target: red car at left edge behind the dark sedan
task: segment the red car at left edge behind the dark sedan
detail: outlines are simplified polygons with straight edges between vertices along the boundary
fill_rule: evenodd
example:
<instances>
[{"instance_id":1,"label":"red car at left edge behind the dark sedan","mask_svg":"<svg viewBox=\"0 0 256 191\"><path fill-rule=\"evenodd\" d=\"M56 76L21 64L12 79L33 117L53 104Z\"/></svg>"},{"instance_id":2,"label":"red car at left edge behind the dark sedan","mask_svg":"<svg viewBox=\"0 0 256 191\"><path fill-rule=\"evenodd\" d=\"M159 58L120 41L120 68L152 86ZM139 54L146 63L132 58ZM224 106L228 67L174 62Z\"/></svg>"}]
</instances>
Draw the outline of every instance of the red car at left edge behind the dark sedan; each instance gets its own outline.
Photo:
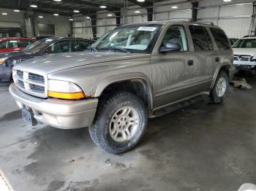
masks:
<instances>
[{"instance_id":1,"label":"red car at left edge behind the dark sedan","mask_svg":"<svg viewBox=\"0 0 256 191\"><path fill-rule=\"evenodd\" d=\"M24 47L35 42L35 39L23 37L0 38L0 52L21 51Z\"/></svg>"}]
</instances>

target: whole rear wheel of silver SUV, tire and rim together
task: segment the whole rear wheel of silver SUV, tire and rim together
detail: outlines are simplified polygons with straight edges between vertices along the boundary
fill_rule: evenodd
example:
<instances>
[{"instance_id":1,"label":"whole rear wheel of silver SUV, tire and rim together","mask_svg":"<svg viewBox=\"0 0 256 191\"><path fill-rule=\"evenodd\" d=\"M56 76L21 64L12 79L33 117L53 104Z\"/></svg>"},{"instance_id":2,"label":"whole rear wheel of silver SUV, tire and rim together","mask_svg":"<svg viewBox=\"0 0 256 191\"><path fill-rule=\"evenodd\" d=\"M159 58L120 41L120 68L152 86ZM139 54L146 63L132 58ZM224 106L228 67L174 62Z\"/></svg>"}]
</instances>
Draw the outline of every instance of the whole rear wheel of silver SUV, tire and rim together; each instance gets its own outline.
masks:
<instances>
[{"instance_id":1,"label":"whole rear wheel of silver SUV, tire and rim together","mask_svg":"<svg viewBox=\"0 0 256 191\"><path fill-rule=\"evenodd\" d=\"M222 104L227 96L228 88L229 78L227 77L227 73L225 71L220 71L209 95L211 102L214 104Z\"/></svg>"}]
</instances>

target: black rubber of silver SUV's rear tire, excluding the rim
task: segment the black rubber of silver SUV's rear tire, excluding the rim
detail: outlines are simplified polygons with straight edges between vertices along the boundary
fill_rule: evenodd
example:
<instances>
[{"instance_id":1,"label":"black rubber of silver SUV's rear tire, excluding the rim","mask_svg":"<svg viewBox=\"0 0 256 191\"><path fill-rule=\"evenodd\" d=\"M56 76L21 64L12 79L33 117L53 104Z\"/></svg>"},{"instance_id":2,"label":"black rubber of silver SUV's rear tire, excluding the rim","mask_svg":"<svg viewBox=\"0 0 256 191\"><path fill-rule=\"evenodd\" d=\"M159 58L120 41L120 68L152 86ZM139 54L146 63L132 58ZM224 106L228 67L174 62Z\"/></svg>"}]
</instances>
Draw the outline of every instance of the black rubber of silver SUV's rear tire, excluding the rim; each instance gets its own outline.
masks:
<instances>
[{"instance_id":1,"label":"black rubber of silver SUV's rear tire, excluding the rim","mask_svg":"<svg viewBox=\"0 0 256 191\"><path fill-rule=\"evenodd\" d=\"M217 95L217 83L219 82L219 79L224 78L226 81L226 90L224 95L222 96L218 96ZM214 87L211 89L209 98L210 101L214 104L222 104L222 102L225 100L226 96L227 96L227 92L228 92L228 88L229 88L229 78L227 76L227 73L225 71L220 71L217 79L215 81Z\"/></svg>"}]
</instances>

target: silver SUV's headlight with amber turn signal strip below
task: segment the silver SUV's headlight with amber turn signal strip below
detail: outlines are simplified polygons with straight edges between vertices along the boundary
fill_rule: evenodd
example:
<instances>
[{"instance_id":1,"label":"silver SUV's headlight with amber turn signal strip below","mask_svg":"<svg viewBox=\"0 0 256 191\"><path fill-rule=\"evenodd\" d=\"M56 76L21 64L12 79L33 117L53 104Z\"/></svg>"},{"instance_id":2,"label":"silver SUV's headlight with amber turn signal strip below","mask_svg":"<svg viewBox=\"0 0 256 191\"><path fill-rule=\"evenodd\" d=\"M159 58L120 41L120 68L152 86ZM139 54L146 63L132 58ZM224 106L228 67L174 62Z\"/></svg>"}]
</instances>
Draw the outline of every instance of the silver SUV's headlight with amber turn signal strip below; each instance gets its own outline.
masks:
<instances>
[{"instance_id":1,"label":"silver SUV's headlight with amber turn signal strip below","mask_svg":"<svg viewBox=\"0 0 256 191\"><path fill-rule=\"evenodd\" d=\"M61 99L81 99L86 98L83 90L72 82L60 81L56 79L48 80L48 96Z\"/></svg>"}]
</instances>

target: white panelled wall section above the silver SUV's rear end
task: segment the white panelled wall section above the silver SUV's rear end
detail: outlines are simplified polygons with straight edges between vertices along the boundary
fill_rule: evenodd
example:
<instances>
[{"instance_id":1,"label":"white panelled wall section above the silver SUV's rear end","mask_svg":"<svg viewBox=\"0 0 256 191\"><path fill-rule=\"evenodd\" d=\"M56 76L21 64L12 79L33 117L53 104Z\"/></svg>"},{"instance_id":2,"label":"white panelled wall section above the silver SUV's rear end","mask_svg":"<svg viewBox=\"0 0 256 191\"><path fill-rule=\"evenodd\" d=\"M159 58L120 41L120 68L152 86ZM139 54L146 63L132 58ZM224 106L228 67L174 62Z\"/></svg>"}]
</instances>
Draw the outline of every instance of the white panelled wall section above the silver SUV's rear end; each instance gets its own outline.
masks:
<instances>
[{"instance_id":1,"label":"white panelled wall section above the silver SUV's rear end","mask_svg":"<svg viewBox=\"0 0 256 191\"><path fill-rule=\"evenodd\" d=\"M226 32L227 36L241 38L249 34L253 6L251 1L233 0L225 3L222 0L199 2L197 18L200 21L213 22Z\"/></svg>"}]
</instances>

